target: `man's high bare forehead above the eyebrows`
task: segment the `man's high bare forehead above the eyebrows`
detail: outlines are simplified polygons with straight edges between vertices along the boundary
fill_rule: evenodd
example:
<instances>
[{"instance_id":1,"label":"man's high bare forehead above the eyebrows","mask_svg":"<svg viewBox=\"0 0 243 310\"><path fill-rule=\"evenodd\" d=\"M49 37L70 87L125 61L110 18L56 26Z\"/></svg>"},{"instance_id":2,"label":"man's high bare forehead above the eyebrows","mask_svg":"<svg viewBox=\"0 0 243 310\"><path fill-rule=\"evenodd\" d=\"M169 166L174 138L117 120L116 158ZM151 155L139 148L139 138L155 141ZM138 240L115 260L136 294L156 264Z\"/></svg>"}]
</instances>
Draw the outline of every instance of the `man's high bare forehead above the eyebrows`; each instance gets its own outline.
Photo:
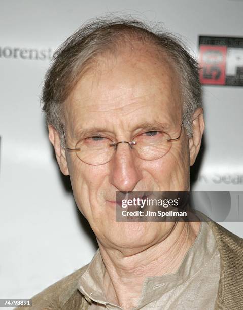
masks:
<instances>
[{"instance_id":1,"label":"man's high bare forehead above the eyebrows","mask_svg":"<svg viewBox=\"0 0 243 310\"><path fill-rule=\"evenodd\" d=\"M135 126L139 122L176 124L182 103L178 74L168 57L149 46L132 46L100 57L65 102L70 130L81 127Z\"/></svg>"}]
</instances>

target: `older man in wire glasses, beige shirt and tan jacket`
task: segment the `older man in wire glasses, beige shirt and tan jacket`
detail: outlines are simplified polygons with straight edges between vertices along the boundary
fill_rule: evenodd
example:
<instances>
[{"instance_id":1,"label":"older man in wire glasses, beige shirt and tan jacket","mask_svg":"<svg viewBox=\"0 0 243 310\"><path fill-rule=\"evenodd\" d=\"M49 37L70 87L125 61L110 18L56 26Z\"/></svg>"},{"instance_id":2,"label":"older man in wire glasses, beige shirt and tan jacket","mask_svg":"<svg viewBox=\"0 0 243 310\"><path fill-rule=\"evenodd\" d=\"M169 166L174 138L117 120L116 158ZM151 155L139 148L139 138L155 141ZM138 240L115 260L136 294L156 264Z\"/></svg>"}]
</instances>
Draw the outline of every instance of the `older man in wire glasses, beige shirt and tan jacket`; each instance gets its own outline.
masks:
<instances>
[{"instance_id":1,"label":"older man in wire glasses, beige shirt and tan jacket","mask_svg":"<svg viewBox=\"0 0 243 310\"><path fill-rule=\"evenodd\" d=\"M190 190L204 121L185 47L138 21L94 20L56 51L43 102L99 249L33 308L242 309L240 238L214 222L116 221L116 192Z\"/></svg>"}]
</instances>

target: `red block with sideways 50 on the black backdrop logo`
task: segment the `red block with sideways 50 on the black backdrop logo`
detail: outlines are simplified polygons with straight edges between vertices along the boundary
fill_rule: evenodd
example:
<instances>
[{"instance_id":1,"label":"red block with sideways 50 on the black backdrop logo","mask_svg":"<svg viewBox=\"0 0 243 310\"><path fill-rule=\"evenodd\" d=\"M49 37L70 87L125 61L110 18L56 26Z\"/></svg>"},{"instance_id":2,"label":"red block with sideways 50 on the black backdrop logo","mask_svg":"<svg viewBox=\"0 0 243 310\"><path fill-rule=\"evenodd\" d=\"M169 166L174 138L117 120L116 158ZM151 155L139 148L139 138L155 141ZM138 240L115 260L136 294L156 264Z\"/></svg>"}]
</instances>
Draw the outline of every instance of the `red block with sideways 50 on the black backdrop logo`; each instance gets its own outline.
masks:
<instances>
[{"instance_id":1,"label":"red block with sideways 50 on the black backdrop logo","mask_svg":"<svg viewBox=\"0 0 243 310\"><path fill-rule=\"evenodd\" d=\"M227 46L200 45L201 84L225 84Z\"/></svg>"}]
</instances>

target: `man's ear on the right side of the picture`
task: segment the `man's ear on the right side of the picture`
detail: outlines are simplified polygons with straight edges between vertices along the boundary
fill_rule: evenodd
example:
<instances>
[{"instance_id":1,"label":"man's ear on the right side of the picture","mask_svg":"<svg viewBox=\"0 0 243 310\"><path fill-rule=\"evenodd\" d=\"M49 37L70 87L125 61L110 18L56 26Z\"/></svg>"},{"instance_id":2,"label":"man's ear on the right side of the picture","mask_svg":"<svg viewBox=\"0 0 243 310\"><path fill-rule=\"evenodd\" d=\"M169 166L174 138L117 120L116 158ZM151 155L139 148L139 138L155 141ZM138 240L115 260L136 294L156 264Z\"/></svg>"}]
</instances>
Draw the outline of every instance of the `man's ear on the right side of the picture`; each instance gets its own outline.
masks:
<instances>
[{"instance_id":1,"label":"man's ear on the right side of the picture","mask_svg":"<svg viewBox=\"0 0 243 310\"><path fill-rule=\"evenodd\" d=\"M189 150L190 150L190 165L192 166L197 158L197 154L200 150L202 134L204 131L204 119L203 109L198 108L192 117L192 133L193 136L189 139Z\"/></svg>"}]
</instances>

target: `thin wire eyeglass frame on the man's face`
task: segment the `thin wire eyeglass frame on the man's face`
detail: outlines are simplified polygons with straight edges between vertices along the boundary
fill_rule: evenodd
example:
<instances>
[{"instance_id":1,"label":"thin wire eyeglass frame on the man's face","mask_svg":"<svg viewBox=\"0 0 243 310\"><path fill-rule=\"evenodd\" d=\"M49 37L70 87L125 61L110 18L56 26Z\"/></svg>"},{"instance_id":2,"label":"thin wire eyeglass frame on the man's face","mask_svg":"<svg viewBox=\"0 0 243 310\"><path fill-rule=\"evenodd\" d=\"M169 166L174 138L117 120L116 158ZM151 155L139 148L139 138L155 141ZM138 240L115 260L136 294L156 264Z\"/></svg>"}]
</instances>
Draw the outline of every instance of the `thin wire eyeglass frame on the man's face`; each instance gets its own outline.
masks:
<instances>
[{"instance_id":1,"label":"thin wire eyeglass frame on the man's face","mask_svg":"<svg viewBox=\"0 0 243 310\"><path fill-rule=\"evenodd\" d=\"M182 134L182 126L183 126L183 121L182 121L181 126L180 126L180 134L179 134L179 136L178 136L177 138L167 139L167 141L176 141L176 140L180 139L181 134ZM62 128L62 133L63 133L64 140L65 140L65 148L66 148L66 150L67 150L68 152L75 152L75 153L77 153L77 151L80 151L80 150L81 150L80 148L70 148L70 147L68 147L68 146L67 146L67 143L66 143L66 137L65 137L64 128ZM167 134L167 133L166 133L166 134ZM136 137L136 136L135 136L135 137ZM134 137L134 138L135 138L135 137ZM83 140L83 139L86 139L86 138L82 138L82 139L78 140L77 143L76 143L76 145L77 145L81 140ZM110 158L109 161L107 161L107 162L105 162L105 163L102 163L102 164L89 164L89 163L86 163L85 161L81 160L81 159L78 157L77 154L76 154L76 156L78 157L78 159L79 159L81 162L83 162L83 163L85 163L85 164L87 164L87 165L92 165L92 166L105 165L105 164L109 163L109 162L112 160L112 158L113 158L113 156L114 156L114 154L115 154L115 152L116 152L116 150L117 150L117 145L118 145L119 143L128 143L129 146L130 146L130 148L132 149L132 145L135 145L135 144L136 144L136 141L130 141L130 142L128 142L128 141L118 141L118 142L113 141L113 143L109 144L109 146L114 146L114 153L113 153L113 155L112 155L112 157ZM167 154L167 153L165 153L163 156L159 157L158 159L164 157L166 154ZM140 158L140 157L138 157L138 158ZM143 158L141 158L141 159L143 159ZM154 159L154 160L158 160L158 159ZM144 161L154 161L154 160L149 160L149 159L148 159L148 160L147 160L147 159L143 159L143 160L144 160Z\"/></svg>"}]
</instances>

